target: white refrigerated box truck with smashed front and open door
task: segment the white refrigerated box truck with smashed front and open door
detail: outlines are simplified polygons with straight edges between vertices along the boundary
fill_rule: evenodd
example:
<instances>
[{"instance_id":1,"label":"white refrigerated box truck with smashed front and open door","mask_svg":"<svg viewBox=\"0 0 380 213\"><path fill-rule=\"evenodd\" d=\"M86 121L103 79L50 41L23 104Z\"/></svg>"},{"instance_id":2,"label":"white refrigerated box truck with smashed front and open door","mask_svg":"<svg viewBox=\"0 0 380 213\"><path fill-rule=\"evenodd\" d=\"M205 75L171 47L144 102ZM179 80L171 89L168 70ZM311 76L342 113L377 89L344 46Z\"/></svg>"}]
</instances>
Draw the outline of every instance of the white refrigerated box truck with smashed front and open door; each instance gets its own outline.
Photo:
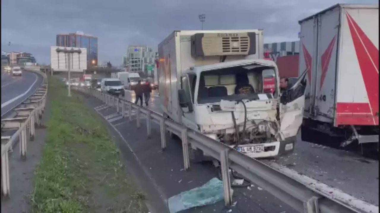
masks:
<instances>
[{"instance_id":1,"label":"white refrigerated box truck with smashed front and open door","mask_svg":"<svg viewBox=\"0 0 380 213\"><path fill-rule=\"evenodd\" d=\"M174 31L158 56L165 117L252 158L293 151L304 81L280 96L277 66L263 59L262 30ZM264 87L268 76L274 88ZM189 152L193 160L204 157L193 144Z\"/></svg>"}]
</instances>

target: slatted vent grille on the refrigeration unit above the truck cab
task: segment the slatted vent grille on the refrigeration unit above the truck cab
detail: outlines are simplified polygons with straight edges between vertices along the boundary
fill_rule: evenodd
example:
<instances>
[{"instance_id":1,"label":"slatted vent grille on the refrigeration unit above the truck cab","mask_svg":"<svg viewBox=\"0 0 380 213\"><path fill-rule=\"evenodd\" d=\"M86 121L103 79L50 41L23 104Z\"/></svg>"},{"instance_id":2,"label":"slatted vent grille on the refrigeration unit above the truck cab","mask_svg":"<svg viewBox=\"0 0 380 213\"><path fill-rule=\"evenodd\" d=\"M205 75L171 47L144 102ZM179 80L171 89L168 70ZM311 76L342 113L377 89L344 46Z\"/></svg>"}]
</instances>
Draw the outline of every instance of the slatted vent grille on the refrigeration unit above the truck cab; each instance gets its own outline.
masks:
<instances>
[{"instance_id":1,"label":"slatted vent grille on the refrigeration unit above the truck cab","mask_svg":"<svg viewBox=\"0 0 380 213\"><path fill-rule=\"evenodd\" d=\"M249 38L247 36L222 38L222 50L224 53L246 53L248 52L248 47Z\"/></svg>"}]
</instances>

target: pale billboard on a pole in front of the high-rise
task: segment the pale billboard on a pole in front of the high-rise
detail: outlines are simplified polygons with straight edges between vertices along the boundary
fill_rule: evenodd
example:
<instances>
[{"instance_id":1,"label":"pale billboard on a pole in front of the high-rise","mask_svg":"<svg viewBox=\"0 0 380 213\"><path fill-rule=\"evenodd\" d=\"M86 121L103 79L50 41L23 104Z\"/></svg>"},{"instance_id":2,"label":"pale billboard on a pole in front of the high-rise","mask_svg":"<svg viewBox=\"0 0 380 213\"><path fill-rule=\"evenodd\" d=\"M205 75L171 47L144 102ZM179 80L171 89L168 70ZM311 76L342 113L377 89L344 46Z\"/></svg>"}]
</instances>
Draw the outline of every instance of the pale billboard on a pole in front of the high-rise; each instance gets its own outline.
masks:
<instances>
[{"instance_id":1,"label":"pale billboard on a pole in front of the high-rise","mask_svg":"<svg viewBox=\"0 0 380 213\"><path fill-rule=\"evenodd\" d=\"M50 47L50 62L53 71L83 72L87 69L87 49L79 47Z\"/></svg>"}]
</instances>

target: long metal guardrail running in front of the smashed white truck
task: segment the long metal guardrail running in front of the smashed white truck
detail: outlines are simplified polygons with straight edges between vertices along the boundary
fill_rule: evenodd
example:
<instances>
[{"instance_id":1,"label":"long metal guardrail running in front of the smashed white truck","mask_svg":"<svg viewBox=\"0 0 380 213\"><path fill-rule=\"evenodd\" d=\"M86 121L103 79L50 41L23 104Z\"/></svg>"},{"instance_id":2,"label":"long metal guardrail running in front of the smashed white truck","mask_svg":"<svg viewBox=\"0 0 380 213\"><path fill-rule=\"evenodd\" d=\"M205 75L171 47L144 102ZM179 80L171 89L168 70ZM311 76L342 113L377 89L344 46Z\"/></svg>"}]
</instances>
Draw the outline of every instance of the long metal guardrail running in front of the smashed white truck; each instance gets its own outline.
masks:
<instances>
[{"instance_id":1,"label":"long metal guardrail running in front of the smashed white truck","mask_svg":"<svg viewBox=\"0 0 380 213\"><path fill-rule=\"evenodd\" d=\"M360 213L375 213L378 212L378 207L369 204L363 200L353 199L347 202L342 202L342 199L328 196L323 192L312 190L306 184L288 177L287 175L261 163L260 161L250 158L234 149L222 144L214 139L211 139L199 132L191 130L184 125L178 124L170 119L166 119L154 111L140 107L127 100L119 99L101 91L74 87L74 90L91 95L103 101L108 107L116 107L118 113L123 117L126 116L128 108L129 121L132 121L131 112L135 110L136 125L140 127L141 114L146 117L147 135L151 134L151 122L154 121L160 125L161 148L166 148L165 131L176 134L182 139L184 169L190 168L189 160L189 144L203 150L203 152L211 155L218 161L222 170L222 180L224 186L225 205L231 205L232 193L229 168L242 174L246 179L262 186L269 193L287 203L295 210L304 213L345 213L345 212L360 212ZM121 105L120 105L121 104ZM121 107L121 109L120 109ZM348 197L350 195L345 194Z\"/></svg>"}]
</instances>

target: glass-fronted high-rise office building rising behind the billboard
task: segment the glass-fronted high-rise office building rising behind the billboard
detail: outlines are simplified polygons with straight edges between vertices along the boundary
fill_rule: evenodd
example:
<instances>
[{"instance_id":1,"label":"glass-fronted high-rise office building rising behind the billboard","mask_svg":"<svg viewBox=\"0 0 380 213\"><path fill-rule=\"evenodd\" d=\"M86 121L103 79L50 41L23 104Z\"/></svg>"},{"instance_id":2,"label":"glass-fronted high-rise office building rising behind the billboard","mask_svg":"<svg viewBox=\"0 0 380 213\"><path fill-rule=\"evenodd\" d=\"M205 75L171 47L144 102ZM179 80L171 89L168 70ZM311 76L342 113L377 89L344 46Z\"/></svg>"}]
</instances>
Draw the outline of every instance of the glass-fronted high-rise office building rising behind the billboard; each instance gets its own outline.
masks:
<instances>
[{"instance_id":1,"label":"glass-fronted high-rise office building rising behind the billboard","mask_svg":"<svg viewBox=\"0 0 380 213\"><path fill-rule=\"evenodd\" d=\"M87 49L87 67L98 64L98 37L85 35L83 32L57 34L56 45L59 47L80 47Z\"/></svg>"}]
</instances>

